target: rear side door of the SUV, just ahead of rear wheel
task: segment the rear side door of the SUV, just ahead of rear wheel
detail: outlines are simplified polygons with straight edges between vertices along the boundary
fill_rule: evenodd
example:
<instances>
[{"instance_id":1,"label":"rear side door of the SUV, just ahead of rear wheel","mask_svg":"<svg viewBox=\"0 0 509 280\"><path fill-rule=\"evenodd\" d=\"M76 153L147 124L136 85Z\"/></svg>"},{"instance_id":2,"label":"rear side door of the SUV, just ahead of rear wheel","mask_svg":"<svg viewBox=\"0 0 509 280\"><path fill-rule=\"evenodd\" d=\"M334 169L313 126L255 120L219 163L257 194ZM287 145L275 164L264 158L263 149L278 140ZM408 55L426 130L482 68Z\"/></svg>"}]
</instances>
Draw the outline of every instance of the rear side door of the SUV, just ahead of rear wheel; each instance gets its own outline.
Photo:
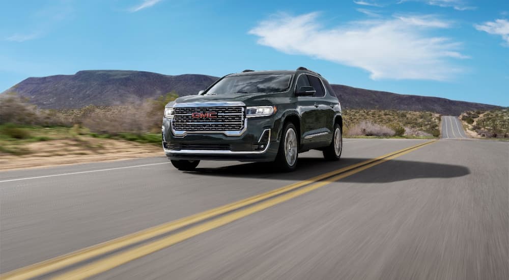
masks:
<instances>
[{"instance_id":1,"label":"rear side door of the SUV, just ahead of rear wheel","mask_svg":"<svg viewBox=\"0 0 509 280\"><path fill-rule=\"evenodd\" d=\"M332 118L333 110L325 98L325 88L318 76L308 75L309 83L315 89L314 100L314 134L313 142L319 147L326 146L332 141Z\"/></svg>"}]
</instances>

